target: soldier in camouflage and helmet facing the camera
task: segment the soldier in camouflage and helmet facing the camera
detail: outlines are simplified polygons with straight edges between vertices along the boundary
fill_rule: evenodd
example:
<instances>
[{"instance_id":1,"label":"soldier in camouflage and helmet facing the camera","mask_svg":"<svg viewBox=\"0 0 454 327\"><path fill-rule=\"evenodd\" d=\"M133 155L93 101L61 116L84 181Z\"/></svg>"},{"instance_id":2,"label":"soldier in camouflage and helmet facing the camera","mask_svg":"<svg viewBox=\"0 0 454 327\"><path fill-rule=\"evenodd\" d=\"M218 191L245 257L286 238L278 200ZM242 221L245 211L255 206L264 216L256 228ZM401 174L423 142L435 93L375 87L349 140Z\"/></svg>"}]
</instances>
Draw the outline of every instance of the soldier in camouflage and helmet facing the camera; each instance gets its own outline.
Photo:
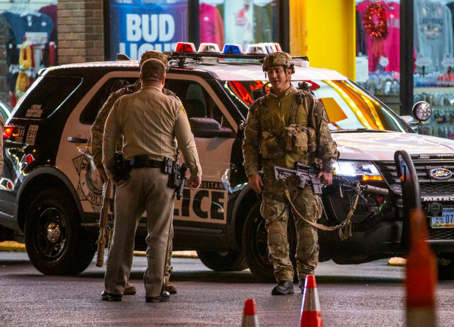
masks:
<instances>
[{"instance_id":1,"label":"soldier in camouflage and helmet facing the camera","mask_svg":"<svg viewBox=\"0 0 454 327\"><path fill-rule=\"evenodd\" d=\"M250 107L244 129L243 156L249 185L262 192L260 211L268 231L269 259L278 282L271 294L293 294L293 266L289 259L287 241L288 201L284 181L276 181L274 166L293 168L296 161L311 164L321 161L319 173L324 184L331 184L333 164L337 157L336 144L328 129L328 118L323 104L307 91L290 83L295 72L293 60L287 53L275 52L265 57L263 71L268 75L271 90ZM262 181L258 174L261 157ZM311 186L299 190L297 181L286 181L292 202L306 219L321 217L322 202ZM307 274L313 274L318 263L317 230L298 219L296 224L296 263L299 287L304 286Z\"/></svg>"}]
</instances>

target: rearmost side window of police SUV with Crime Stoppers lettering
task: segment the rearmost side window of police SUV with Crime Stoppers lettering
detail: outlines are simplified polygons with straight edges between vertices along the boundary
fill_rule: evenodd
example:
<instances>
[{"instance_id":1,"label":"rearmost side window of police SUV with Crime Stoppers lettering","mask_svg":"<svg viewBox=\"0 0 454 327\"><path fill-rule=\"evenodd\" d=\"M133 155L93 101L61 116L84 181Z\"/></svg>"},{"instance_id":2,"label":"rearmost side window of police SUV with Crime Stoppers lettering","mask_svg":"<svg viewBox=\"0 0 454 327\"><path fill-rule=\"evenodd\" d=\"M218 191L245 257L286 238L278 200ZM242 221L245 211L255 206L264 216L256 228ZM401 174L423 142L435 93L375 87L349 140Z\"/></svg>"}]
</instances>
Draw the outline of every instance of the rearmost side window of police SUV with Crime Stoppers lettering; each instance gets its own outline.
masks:
<instances>
[{"instance_id":1,"label":"rearmost side window of police SUV with Crime Stoppers lettering","mask_svg":"<svg viewBox=\"0 0 454 327\"><path fill-rule=\"evenodd\" d=\"M41 76L19 101L14 116L45 119L58 110L81 83L80 77Z\"/></svg>"}]
</instances>

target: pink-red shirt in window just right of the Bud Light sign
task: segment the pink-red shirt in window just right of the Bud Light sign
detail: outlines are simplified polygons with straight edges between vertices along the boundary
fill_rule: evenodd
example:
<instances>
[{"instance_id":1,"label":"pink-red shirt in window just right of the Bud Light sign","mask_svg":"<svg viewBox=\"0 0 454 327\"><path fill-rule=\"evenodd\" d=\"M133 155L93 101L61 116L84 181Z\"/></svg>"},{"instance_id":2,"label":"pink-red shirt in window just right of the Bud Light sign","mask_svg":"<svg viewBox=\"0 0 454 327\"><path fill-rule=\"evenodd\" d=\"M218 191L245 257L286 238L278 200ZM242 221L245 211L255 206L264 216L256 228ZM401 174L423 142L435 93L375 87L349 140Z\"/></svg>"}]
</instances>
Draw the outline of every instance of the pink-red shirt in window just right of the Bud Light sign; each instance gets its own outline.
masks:
<instances>
[{"instance_id":1,"label":"pink-red shirt in window just right of the Bud Light sign","mask_svg":"<svg viewBox=\"0 0 454 327\"><path fill-rule=\"evenodd\" d=\"M199 6L200 42L216 43L224 46L224 21L218 9L202 3Z\"/></svg>"}]
</instances>

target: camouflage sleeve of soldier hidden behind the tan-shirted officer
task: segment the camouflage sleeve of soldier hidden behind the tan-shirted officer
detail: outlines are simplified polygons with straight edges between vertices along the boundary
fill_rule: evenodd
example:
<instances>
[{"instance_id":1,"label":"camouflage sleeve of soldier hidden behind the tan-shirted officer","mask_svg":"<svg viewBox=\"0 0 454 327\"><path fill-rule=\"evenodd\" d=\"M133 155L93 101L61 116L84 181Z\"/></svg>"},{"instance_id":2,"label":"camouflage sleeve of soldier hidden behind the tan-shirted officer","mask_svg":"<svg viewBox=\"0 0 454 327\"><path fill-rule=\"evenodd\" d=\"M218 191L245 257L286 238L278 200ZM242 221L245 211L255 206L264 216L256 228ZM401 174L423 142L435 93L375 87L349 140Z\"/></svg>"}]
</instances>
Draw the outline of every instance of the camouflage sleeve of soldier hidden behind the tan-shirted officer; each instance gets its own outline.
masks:
<instances>
[{"instance_id":1,"label":"camouflage sleeve of soldier hidden behind the tan-shirted officer","mask_svg":"<svg viewBox=\"0 0 454 327\"><path fill-rule=\"evenodd\" d=\"M107 116L109 115L112 107L114 106L115 101L120 99L121 96L125 94L124 89L120 89L117 92L110 94L109 98L104 103L103 107L98 112L95 122L91 127L91 136L92 136L92 157L93 162L95 163L96 168L103 167L103 134L104 134L104 125L106 124Z\"/></svg>"}]
</instances>

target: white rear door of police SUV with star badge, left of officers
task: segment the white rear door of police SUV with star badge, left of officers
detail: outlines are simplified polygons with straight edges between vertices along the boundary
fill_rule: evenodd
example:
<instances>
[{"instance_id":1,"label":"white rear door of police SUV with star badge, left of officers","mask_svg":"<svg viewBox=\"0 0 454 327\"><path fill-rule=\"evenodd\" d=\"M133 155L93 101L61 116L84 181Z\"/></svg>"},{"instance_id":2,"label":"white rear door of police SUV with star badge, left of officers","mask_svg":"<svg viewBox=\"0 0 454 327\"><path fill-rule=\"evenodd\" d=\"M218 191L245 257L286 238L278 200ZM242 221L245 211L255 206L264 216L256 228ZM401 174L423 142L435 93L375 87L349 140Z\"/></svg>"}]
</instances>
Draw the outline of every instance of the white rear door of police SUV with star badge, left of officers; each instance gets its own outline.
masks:
<instances>
[{"instance_id":1,"label":"white rear door of police SUV with star badge, left of officers","mask_svg":"<svg viewBox=\"0 0 454 327\"><path fill-rule=\"evenodd\" d=\"M75 106L65 124L56 166L71 180L85 213L99 213L102 204L103 185L91 160L91 125L118 81L134 83L138 78L139 72L132 71L106 74Z\"/></svg>"}]
</instances>

